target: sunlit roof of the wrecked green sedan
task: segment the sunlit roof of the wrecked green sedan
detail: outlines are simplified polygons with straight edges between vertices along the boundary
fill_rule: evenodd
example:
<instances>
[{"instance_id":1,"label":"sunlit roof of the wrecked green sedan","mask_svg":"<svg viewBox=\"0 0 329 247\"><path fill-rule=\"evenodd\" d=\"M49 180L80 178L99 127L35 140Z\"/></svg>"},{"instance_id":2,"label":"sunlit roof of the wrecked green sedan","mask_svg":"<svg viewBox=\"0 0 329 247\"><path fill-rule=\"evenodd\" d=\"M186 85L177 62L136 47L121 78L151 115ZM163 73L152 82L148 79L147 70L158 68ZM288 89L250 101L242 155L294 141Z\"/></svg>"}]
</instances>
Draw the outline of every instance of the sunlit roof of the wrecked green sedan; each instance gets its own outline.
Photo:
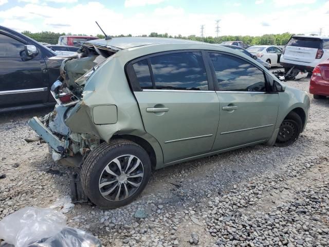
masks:
<instances>
[{"instance_id":1,"label":"sunlit roof of the wrecked green sedan","mask_svg":"<svg viewBox=\"0 0 329 247\"><path fill-rule=\"evenodd\" d=\"M174 38L155 38L155 37L119 37L109 40L98 39L84 42L84 44L100 45L106 47L116 47L119 49L129 49L138 46L156 45L156 44L208 44L199 41L182 40Z\"/></svg>"}]
</instances>

